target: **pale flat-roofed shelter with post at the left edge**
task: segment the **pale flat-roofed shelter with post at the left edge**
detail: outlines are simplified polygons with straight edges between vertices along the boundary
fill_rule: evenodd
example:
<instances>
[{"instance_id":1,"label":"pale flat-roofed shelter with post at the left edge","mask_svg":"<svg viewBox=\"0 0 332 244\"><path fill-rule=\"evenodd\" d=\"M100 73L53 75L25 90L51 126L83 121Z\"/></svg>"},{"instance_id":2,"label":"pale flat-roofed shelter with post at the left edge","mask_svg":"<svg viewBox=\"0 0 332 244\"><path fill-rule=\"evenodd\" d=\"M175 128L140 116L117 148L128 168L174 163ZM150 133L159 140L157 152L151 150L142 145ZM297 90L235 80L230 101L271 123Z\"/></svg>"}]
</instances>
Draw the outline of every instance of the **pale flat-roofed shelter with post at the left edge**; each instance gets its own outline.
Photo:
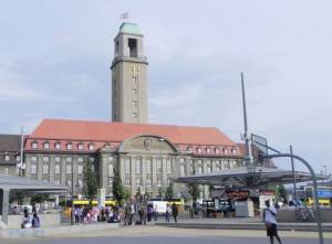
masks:
<instances>
[{"instance_id":1,"label":"pale flat-roofed shelter with post at the left edge","mask_svg":"<svg viewBox=\"0 0 332 244\"><path fill-rule=\"evenodd\" d=\"M61 184L32 180L22 177L0 174L0 215L1 221L8 222L9 193L10 191L22 191L24 193L65 193L69 188Z\"/></svg>"}]
</instances>

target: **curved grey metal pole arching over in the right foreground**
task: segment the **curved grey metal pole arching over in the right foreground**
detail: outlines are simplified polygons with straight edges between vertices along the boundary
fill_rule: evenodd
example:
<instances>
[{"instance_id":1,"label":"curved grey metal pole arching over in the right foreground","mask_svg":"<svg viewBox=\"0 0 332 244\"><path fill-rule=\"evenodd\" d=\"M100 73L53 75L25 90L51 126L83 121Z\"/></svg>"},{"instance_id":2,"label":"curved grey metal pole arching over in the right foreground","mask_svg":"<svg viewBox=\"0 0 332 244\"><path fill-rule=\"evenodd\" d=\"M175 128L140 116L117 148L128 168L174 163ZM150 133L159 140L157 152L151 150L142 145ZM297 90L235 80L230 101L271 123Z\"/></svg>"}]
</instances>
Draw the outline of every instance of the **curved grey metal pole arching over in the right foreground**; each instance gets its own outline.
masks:
<instances>
[{"instance_id":1,"label":"curved grey metal pole arching over in the right foreground","mask_svg":"<svg viewBox=\"0 0 332 244\"><path fill-rule=\"evenodd\" d=\"M315 210L315 218L317 218L317 225L318 225L318 231L319 231L319 238L320 238L320 244L324 244L323 240L323 230L322 230L322 221L321 221L321 210L319 205L319 198L318 198L318 185L317 185L317 179L315 179L315 173L312 169L312 167L304 159L302 159L299 156L295 156L293 153L280 153L280 155L269 155L264 156L266 159L272 159L272 158L294 158L298 159L299 161L303 162L307 168L309 169L313 182L313 195L314 195L314 210Z\"/></svg>"}]
</instances>

